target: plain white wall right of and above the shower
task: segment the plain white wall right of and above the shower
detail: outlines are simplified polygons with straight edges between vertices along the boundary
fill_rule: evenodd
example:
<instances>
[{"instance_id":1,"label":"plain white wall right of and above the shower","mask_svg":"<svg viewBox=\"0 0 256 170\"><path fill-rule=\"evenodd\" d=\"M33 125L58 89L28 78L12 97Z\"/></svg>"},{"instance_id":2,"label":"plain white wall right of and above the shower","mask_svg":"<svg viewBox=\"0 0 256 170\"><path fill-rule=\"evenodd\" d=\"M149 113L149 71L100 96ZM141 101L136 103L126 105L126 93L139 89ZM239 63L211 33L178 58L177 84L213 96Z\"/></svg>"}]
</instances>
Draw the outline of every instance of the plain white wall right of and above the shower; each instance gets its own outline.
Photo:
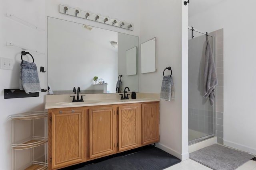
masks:
<instances>
[{"instance_id":1,"label":"plain white wall right of and above the shower","mask_svg":"<svg viewBox=\"0 0 256 170\"><path fill-rule=\"evenodd\" d=\"M196 29L208 32L224 29L224 145L254 154L255 6L254 0L223 0L189 17L189 25Z\"/></svg>"}]
</instances>

